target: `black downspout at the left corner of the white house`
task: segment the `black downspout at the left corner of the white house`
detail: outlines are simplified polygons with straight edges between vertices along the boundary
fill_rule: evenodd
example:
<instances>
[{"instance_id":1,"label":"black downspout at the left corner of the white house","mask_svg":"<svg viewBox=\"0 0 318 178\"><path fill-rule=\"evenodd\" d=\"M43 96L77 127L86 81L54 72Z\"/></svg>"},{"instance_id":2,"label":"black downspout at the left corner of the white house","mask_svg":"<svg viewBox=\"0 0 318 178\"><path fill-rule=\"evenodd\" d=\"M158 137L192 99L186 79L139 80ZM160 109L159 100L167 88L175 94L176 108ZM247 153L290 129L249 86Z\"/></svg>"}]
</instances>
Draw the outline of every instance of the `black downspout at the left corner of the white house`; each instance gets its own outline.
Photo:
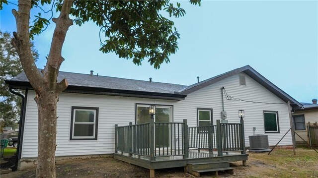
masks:
<instances>
[{"instance_id":1,"label":"black downspout at the left corner of the white house","mask_svg":"<svg viewBox=\"0 0 318 178\"><path fill-rule=\"evenodd\" d=\"M9 88L9 91L14 94L17 95L19 97L22 98L22 102L21 102L21 111L20 111L20 120L19 120L19 132L18 132L18 146L16 148L16 159L15 159L15 165L13 167L13 171L17 170L18 167L18 161L21 158L21 152L22 152L22 141L23 141L23 128L24 128L24 119L25 119L25 98L27 97L28 94L28 90L25 90L25 97L23 95L21 95L20 93L17 93L15 91L12 90L12 88Z\"/></svg>"}]
</instances>

